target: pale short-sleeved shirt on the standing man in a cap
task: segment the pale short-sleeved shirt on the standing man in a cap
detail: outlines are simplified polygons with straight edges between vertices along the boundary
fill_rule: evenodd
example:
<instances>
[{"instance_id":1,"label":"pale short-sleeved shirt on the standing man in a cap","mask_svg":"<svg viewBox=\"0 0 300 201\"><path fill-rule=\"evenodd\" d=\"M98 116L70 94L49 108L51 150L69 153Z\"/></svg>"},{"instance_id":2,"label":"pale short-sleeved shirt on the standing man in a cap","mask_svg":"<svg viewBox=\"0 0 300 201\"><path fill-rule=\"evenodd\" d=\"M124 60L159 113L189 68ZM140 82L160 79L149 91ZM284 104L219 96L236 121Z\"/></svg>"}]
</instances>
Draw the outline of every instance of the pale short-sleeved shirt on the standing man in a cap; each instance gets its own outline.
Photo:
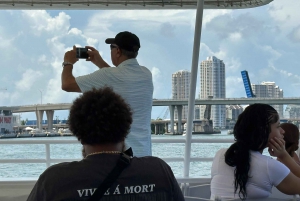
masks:
<instances>
[{"instance_id":1,"label":"pale short-sleeved shirt on the standing man in a cap","mask_svg":"<svg viewBox=\"0 0 300 201\"><path fill-rule=\"evenodd\" d=\"M76 82L82 92L93 87L112 87L130 105L133 123L125 142L134 156L151 156L151 110L153 83L151 72L136 59L128 59L119 66L102 68L89 75L79 76Z\"/></svg>"}]
</instances>

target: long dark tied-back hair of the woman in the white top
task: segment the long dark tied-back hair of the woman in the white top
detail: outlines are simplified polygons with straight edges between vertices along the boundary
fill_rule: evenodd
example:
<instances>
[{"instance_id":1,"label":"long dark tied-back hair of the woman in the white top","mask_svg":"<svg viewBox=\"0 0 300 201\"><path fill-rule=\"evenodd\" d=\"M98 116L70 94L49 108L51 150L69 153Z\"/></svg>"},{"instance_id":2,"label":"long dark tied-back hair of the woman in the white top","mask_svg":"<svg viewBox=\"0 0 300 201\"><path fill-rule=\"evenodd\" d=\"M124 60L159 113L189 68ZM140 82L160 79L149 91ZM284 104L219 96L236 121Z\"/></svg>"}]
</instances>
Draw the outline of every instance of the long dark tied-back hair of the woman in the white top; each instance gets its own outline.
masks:
<instances>
[{"instance_id":1,"label":"long dark tied-back hair of the woman in the white top","mask_svg":"<svg viewBox=\"0 0 300 201\"><path fill-rule=\"evenodd\" d=\"M247 197L246 184L251 177L249 151L261 151L267 146L271 124L278 119L273 107L258 103L249 105L238 117L234 126L235 143L226 151L225 162L235 167L234 193L238 191L242 200Z\"/></svg>"}]
</instances>

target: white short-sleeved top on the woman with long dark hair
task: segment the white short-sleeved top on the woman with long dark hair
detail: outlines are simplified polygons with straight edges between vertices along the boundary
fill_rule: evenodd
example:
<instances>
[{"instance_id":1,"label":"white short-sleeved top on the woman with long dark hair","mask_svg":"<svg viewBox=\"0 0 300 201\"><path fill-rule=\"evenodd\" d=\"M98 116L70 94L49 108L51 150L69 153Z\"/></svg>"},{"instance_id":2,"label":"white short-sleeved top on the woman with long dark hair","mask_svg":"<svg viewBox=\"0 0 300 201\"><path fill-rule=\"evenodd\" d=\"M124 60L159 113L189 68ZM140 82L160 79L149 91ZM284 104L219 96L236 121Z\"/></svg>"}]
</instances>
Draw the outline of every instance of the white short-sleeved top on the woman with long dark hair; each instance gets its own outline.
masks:
<instances>
[{"instance_id":1,"label":"white short-sleeved top on the woman with long dark hair","mask_svg":"<svg viewBox=\"0 0 300 201\"><path fill-rule=\"evenodd\" d=\"M211 199L215 197L238 198L234 195L234 170L225 163L225 152L217 152L211 168ZM246 191L248 198L267 198L272 193L272 187L277 186L290 173L290 170L281 162L264 156L258 151L250 151L250 171Z\"/></svg>"}]
</instances>

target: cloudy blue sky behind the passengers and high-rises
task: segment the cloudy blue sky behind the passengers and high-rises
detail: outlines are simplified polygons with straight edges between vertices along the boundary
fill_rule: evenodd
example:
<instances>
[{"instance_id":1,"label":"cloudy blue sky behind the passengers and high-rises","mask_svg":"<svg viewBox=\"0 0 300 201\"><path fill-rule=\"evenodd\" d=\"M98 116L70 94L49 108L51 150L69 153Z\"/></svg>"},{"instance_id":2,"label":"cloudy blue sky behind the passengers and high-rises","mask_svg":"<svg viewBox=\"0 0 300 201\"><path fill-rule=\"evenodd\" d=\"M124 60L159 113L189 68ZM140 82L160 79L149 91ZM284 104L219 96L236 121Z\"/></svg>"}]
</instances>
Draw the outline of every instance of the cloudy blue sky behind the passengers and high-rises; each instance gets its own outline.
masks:
<instances>
[{"instance_id":1,"label":"cloudy blue sky behind the passengers and high-rises","mask_svg":"<svg viewBox=\"0 0 300 201\"><path fill-rule=\"evenodd\" d=\"M224 61L226 97L245 97L242 70L249 72L252 83L274 81L284 97L300 96L299 7L298 0L275 0L259 8L205 10L199 62L208 56ZM125 30L140 38L138 61L152 71L153 97L171 98L171 74L191 68L195 14L196 10L0 10L0 88L7 88L0 90L0 105L39 104L40 91L43 103L72 102L78 93L60 87L64 52L74 44L91 45L111 64L104 40ZM80 61L73 72L80 76L95 70L93 64ZM164 111L153 107L152 118ZM54 116L64 119L68 112L56 111ZM22 118L35 119L35 114L23 113Z\"/></svg>"}]
</instances>

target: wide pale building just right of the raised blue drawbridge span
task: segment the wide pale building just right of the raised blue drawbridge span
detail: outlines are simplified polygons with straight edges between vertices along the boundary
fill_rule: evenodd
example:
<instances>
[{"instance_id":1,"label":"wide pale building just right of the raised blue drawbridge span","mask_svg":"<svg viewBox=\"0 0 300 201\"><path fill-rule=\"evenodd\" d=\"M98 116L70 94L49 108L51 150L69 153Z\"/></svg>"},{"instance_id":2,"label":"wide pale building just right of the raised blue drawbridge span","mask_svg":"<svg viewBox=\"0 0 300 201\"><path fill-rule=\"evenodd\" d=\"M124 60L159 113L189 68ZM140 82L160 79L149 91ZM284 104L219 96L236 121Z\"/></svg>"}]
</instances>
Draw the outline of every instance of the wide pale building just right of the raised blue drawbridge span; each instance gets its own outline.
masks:
<instances>
[{"instance_id":1,"label":"wide pale building just right of the raised blue drawbridge span","mask_svg":"<svg viewBox=\"0 0 300 201\"><path fill-rule=\"evenodd\" d=\"M251 84L254 95L257 98L283 98L283 90L276 86L275 82L262 82ZM283 118L283 105L272 105Z\"/></svg>"}]
</instances>

